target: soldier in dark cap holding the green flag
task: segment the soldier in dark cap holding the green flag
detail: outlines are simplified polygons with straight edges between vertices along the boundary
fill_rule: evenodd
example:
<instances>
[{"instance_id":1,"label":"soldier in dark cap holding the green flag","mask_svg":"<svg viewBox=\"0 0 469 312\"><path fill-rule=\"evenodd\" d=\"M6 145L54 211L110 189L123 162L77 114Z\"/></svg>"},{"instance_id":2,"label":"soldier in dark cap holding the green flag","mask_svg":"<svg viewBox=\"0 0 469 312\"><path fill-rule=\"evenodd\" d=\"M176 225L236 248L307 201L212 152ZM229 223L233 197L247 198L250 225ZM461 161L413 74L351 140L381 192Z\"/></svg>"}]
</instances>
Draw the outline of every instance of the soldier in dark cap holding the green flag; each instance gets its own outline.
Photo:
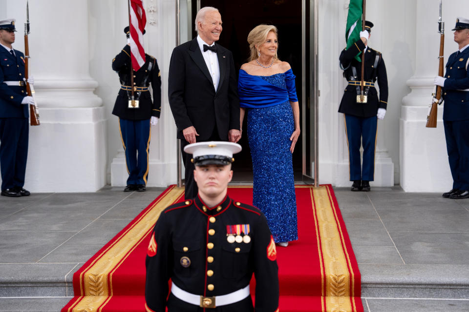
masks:
<instances>
[{"instance_id":1,"label":"soldier in dark cap holding the green flag","mask_svg":"<svg viewBox=\"0 0 469 312\"><path fill-rule=\"evenodd\" d=\"M374 179L375 145L378 120L382 120L387 107L387 75L384 59L380 52L368 46L373 23L365 22L365 30L360 32L360 39L340 56L343 77L348 80L339 113L345 117L345 133L348 141L350 161L350 181L352 191L369 191ZM364 53L364 86L361 95L362 63L355 57ZM375 88L378 80L380 94ZM363 164L361 165L360 146L363 145Z\"/></svg>"}]
</instances>

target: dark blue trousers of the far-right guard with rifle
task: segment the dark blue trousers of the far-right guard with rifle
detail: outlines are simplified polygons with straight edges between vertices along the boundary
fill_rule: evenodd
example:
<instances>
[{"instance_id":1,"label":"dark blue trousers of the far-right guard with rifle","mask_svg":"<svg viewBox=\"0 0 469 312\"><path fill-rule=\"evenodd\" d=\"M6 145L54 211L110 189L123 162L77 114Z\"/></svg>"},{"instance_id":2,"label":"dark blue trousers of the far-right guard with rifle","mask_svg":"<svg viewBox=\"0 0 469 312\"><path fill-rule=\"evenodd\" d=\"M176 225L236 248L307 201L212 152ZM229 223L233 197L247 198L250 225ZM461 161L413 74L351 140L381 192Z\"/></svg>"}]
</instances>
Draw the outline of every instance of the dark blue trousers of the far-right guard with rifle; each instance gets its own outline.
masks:
<instances>
[{"instance_id":1,"label":"dark blue trousers of the far-right guard with rifle","mask_svg":"<svg viewBox=\"0 0 469 312\"><path fill-rule=\"evenodd\" d=\"M443 121L453 189L469 190L469 120Z\"/></svg>"}]
</instances>

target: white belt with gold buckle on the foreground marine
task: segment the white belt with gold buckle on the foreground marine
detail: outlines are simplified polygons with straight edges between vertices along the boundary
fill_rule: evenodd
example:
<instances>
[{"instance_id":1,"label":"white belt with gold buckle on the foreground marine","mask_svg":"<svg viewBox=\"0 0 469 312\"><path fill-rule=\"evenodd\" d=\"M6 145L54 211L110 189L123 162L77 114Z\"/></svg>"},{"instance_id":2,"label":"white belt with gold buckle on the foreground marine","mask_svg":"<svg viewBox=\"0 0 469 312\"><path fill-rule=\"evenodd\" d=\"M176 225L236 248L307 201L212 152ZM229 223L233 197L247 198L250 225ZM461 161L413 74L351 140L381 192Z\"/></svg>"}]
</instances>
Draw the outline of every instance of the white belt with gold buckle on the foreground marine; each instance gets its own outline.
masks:
<instances>
[{"instance_id":1,"label":"white belt with gold buckle on the foreground marine","mask_svg":"<svg viewBox=\"0 0 469 312\"><path fill-rule=\"evenodd\" d=\"M172 283L171 285L171 292L176 298L181 299L182 301L185 301L187 303L199 306L201 308L215 308L219 306L225 306L227 304L232 304L241 301L250 295L249 284L248 286L235 292L213 297L204 297L183 291L182 289L174 285L174 283Z\"/></svg>"}]
</instances>

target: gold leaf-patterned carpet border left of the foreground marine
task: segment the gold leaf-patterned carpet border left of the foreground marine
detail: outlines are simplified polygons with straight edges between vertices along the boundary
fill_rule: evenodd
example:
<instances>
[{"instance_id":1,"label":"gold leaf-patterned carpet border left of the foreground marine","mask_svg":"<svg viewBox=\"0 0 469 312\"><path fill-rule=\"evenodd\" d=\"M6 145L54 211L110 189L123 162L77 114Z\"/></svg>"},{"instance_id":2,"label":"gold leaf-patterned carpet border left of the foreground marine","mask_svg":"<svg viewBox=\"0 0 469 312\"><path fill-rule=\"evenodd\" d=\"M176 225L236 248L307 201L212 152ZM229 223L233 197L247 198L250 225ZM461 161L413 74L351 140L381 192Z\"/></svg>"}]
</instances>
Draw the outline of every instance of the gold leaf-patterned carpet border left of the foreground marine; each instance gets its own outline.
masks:
<instances>
[{"instance_id":1,"label":"gold leaf-patterned carpet border left of the foreground marine","mask_svg":"<svg viewBox=\"0 0 469 312\"><path fill-rule=\"evenodd\" d=\"M104 307L112 296L107 276L114 272L125 258L130 254L138 242L153 228L160 213L181 195L184 188L173 187L164 196L160 197L148 210L141 215L134 224L114 241L102 254L100 254L81 274L80 288L82 296L77 304L68 309L69 312L95 312ZM101 310L101 309L100 309Z\"/></svg>"}]
</instances>

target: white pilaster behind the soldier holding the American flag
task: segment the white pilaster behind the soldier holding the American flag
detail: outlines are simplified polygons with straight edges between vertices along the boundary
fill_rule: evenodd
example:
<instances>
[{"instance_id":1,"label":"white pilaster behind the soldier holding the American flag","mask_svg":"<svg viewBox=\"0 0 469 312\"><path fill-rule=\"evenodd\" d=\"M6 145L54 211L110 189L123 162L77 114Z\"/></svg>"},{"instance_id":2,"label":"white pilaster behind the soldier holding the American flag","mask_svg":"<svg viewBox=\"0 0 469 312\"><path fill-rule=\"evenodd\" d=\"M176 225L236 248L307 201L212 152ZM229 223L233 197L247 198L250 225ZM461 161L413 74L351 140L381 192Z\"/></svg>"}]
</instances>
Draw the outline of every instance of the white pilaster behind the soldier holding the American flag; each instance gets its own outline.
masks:
<instances>
[{"instance_id":1,"label":"white pilaster behind the soldier holding the American flag","mask_svg":"<svg viewBox=\"0 0 469 312\"><path fill-rule=\"evenodd\" d=\"M144 4L147 14L147 26L145 27L147 32L144 36L145 51L157 59L162 82L161 116L158 124L151 126L147 186L167 186L176 183L176 126L168 101L168 70L171 53L176 45L176 8L174 0L148 0ZM122 8L119 7L119 10L121 16L124 14L123 12L127 14L125 5ZM125 24L122 24L122 21L115 21L115 24L118 27L118 33L122 33L123 37L122 30ZM116 48L114 55L119 52L121 46L119 45ZM118 77L117 74L114 73L114 75L116 82L114 90L117 95L119 89ZM113 103L109 103L109 105L112 106ZM111 118L113 117L115 116ZM115 118L117 119L117 117ZM110 182L112 186L125 186L128 173L122 144L116 149L115 153L110 167Z\"/></svg>"}]
</instances>

